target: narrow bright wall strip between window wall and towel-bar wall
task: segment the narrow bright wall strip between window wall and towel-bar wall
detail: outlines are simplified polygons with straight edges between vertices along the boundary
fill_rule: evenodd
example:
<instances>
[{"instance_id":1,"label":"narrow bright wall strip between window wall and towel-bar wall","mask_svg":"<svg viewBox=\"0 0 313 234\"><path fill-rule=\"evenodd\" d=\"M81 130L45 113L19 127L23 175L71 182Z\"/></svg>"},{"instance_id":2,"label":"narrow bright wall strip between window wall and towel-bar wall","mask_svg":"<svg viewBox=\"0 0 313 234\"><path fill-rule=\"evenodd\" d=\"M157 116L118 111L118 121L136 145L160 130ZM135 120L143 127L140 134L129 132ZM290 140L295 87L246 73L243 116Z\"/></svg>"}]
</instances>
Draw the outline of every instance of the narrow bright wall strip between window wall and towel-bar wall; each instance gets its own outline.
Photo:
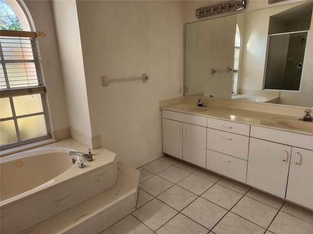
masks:
<instances>
[{"instance_id":1,"label":"narrow bright wall strip between window wall and towel-bar wall","mask_svg":"<svg viewBox=\"0 0 313 234\"><path fill-rule=\"evenodd\" d=\"M66 91L69 126L71 129L91 138L76 1L53 1L53 10ZM71 135L73 135L72 132Z\"/></svg>"}]
</instances>

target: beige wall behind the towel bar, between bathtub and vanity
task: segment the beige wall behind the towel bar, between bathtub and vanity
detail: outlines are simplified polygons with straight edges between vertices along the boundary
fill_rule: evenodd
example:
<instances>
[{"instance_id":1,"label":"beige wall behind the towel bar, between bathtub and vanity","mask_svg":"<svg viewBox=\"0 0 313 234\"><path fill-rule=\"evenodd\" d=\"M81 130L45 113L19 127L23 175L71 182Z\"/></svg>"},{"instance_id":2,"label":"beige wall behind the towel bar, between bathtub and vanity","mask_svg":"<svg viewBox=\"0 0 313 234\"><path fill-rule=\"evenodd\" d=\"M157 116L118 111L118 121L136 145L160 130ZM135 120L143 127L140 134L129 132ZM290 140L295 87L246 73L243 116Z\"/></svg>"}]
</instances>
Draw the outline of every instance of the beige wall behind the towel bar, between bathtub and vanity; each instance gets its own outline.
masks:
<instances>
[{"instance_id":1,"label":"beige wall behind the towel bar, between bathtub and vanity","mask_svg":"<svg viewBox=\"0 0 313 234\"><path fill-rule=\"evenodd\" d=\"M77 1L92 136L131 165L162 154L159 100L183 85L183 1ZM102 87L109 79L140 77ZM138 164L139 163L139 164Z\"/></svg>"}]
</instances>

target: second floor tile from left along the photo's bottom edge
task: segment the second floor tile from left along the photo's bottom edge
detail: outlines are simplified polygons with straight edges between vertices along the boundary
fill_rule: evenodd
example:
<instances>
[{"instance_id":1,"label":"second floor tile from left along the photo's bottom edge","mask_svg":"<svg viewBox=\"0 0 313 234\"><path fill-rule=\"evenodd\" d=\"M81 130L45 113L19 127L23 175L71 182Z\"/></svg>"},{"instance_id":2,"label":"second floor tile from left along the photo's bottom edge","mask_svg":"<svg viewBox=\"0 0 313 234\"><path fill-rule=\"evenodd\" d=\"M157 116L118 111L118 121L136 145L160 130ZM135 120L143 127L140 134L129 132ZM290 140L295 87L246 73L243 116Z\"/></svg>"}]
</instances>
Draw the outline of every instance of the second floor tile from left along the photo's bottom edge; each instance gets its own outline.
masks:
<instances>
[{"instance_id":1,"label":"second floor tile from left along the photo's bottom edge","mask_svg":"<svg viewBox=\"0 0 313 234\"><path fill-rule=\"evenodd\" d=\"M163 227L156 231L156 234L207 234L205 229L190 218L178 214Z\"/></svg>"}]
</instances>

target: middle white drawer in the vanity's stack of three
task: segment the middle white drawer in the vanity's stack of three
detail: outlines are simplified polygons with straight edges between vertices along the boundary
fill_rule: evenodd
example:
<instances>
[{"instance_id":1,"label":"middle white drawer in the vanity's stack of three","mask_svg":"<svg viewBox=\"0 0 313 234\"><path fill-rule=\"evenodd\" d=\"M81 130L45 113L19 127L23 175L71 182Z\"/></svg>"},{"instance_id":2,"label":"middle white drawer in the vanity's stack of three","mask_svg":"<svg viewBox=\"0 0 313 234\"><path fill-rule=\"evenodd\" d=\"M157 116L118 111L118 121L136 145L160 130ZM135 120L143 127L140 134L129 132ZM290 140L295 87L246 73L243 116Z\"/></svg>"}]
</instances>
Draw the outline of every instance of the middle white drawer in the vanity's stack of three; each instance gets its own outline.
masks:
<instances>
[{"instance_id":1,"label":"middle white drawer in the vanity's stack of three","mask_svg":"<svg viewBox=\"0 0 313 234\"><path fill-rule=\"evenodd\" d=\"M249 137L208 128L206 140L209 150L244 160L248 158Z\"/></svg>"}]
</instances>

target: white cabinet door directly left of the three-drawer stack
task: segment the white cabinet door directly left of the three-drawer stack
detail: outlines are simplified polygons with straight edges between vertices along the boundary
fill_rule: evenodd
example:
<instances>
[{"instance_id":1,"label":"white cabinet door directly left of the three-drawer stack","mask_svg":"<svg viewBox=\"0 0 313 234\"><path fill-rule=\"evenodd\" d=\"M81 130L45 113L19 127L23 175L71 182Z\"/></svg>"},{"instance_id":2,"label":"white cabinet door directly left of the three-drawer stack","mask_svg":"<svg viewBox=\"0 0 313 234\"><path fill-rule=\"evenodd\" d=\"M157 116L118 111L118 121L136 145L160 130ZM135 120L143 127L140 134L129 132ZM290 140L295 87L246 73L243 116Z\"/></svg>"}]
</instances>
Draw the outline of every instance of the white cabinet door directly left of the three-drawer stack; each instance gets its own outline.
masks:
<instances>
[{"instance_id":1,"label":"white cabinet door directly left of the three-drawer stack","mask_svg":"<svg viewBox=\"0 0 313 234\"><path fill-rule=\"evenodd\" d=\"M206 128L183 123L182 159L205 168L206 166Z\"/></svg>"}]
</instances>

